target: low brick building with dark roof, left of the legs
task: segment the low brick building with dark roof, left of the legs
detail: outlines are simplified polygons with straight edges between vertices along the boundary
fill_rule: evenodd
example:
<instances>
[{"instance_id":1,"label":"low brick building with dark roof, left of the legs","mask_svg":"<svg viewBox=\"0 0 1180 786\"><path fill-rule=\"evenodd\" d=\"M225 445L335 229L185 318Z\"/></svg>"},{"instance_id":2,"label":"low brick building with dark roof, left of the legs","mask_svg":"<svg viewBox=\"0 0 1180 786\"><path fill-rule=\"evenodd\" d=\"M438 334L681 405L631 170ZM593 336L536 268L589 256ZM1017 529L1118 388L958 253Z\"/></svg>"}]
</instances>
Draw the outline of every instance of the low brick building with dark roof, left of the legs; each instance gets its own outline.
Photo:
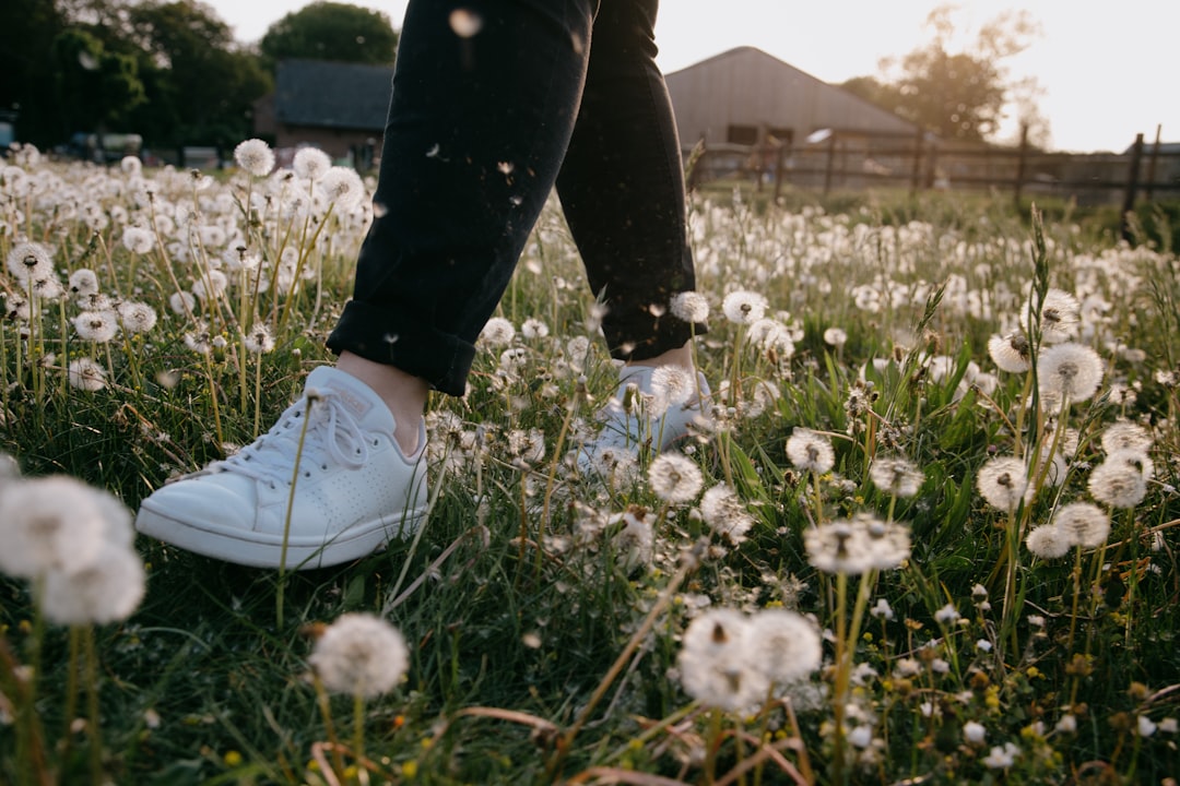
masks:
<instances>
[{"instance_id":1,"label":"low brick building with dark roof, left of the legs","mask_svg":"<svg viewBox=\"0 0 1180 786\"><path fill-rule=\"evenodd\" d=\"M278 150L313 145L366 164L380 148L393 66L283 60L275 91L254 106L254 131Z\"/></svg>"}]
</instances>

